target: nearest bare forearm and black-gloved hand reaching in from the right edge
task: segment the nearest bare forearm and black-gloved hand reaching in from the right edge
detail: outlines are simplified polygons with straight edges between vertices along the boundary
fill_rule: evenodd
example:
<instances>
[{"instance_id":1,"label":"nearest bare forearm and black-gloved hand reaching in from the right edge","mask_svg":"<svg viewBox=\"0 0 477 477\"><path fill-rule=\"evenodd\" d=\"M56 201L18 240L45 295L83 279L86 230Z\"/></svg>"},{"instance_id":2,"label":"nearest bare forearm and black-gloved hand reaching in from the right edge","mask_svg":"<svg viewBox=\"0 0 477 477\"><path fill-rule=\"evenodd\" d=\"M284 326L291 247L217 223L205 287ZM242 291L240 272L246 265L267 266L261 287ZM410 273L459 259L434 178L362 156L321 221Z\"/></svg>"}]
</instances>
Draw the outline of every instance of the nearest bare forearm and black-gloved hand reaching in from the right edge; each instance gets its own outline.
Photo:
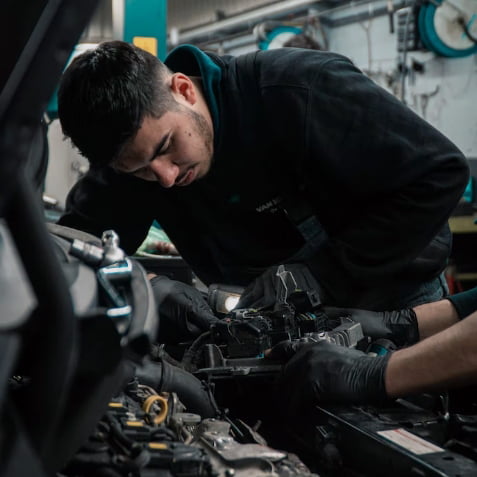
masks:
<instances>
[{"instance_id":1,"label":"nearest bare forearm and black-gloved hand reaching in from the right edge","mask_svg":"<svg viewBox=\"0 0 477 477\"><path fill-rule=\"evenodd\" d=\"M321 341L279 343L268 357L287 361L280 389L289 407L315 402L373 403L477 381L477 312L422 342L372 357Z\"/></svg>"}]
</instances>

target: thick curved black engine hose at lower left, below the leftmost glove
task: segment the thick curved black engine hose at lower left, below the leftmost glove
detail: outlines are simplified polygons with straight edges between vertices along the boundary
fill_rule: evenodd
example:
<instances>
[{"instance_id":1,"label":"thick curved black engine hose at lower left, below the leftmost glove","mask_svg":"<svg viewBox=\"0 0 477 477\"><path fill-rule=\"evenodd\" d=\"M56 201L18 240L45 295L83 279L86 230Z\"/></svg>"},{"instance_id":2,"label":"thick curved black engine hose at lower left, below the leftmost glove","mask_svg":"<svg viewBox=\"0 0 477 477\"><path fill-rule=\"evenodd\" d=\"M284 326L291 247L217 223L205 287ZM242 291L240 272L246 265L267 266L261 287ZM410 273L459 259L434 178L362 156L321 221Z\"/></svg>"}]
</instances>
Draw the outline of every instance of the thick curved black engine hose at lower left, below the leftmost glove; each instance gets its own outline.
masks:
<instances>
[{"instance_id":1,"label":"thick curved black engine hose at lower left, below the leftmost glove","mask_svg":"<svg viewBox=\"0 0 477 477\"><path fill-rule=\"evenodd\" d=\"M157 392L174 392L186 406L188 412L203 418L217 416L217 405L204 384L191 373L161 359L160 362L146 361L136 369L139 382L147 384Z\"/></svg>"}]
</instances>

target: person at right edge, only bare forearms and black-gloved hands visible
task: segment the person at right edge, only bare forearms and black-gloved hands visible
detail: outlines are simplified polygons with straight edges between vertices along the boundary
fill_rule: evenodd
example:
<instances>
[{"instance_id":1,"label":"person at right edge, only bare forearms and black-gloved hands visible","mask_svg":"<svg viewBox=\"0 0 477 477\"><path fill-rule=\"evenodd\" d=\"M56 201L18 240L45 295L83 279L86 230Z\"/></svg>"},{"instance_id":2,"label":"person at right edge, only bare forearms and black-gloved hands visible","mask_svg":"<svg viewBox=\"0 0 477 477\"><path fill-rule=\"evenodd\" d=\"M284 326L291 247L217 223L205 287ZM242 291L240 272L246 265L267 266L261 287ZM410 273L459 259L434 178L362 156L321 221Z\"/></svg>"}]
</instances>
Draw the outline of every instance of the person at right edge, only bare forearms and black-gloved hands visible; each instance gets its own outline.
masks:
<instances>
[{"instance_id":1,"label":"person at right edge, only bare forearms and black-gloved hands visible","mask_svg":"<svg viewBox=\"0 0 477 477\"><path fill-rule=\"evenodd\" d=\"M473 384L476 310L477 288L395 312L328 308L330 317L350 316L361 323L365 335L411 346L372 357L328 342L280 343L268 357L287 361L282 399L288 409L304 409L316 402L376 403Z\"/></svg>"}]
</instances>

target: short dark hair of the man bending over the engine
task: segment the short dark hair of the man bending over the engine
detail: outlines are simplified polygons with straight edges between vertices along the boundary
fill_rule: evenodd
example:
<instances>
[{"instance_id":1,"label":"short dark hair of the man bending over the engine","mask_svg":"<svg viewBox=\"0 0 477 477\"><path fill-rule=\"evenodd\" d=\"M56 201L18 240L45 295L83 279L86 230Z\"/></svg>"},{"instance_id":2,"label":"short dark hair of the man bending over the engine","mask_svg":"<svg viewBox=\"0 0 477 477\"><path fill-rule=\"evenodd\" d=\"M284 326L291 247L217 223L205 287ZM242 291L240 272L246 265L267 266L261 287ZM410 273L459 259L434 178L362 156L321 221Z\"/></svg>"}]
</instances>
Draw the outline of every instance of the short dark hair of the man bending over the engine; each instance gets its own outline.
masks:
<instances>
[{"instance_id":1,"label":"short dark hair of the man bending over the engine","mask_svg":"<svg viewBox=\"0 0 477 477\"><path fill-rule=\"evenodd\" d=\"M122 41L77 56L58 91L63 133L92 167L111 163L145 116L176 108L165 82L169 72L155 56Z\"/></svg>"}]
</instances>

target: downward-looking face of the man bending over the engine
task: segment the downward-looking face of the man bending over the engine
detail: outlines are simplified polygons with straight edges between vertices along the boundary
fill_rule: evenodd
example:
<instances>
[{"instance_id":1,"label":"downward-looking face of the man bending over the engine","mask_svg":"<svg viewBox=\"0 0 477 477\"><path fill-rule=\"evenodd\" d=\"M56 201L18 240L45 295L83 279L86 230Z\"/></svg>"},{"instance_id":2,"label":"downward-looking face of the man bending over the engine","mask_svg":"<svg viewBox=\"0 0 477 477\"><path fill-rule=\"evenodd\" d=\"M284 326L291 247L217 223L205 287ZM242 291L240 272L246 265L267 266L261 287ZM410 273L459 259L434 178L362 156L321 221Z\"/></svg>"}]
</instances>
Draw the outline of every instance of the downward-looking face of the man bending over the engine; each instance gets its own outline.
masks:
<instances>
[{"instance_id":1,"label":"downward-looking face of the man bending over the engine","mask_svg":"<svg viewBox=\"0 0 477 477\"><path fill-rule=\"evenodd\" d=\"M181 106L159 119L145 117L113 167L163 187L186 186L207 174L212 154L212 125Z\"/></svg>"}]
</instances>

